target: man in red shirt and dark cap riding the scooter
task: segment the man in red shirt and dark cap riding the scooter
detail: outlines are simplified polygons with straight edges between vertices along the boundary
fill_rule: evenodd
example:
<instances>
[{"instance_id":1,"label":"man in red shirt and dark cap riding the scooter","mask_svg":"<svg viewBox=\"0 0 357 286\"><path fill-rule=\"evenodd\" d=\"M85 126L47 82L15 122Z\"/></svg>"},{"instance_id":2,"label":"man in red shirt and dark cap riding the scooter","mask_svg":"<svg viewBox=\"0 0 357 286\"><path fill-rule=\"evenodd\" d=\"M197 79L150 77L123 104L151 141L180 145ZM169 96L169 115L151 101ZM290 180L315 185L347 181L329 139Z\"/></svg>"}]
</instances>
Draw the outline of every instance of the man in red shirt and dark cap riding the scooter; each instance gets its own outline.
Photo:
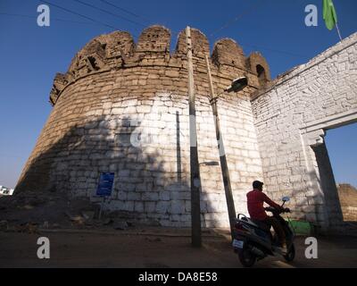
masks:
<instances>
[{"instance_id":1,"label":"man in red shirt and dark cap riding the scooter","mask_svg":"<svg viewBox=\"0 0 357 286\"><path fill-rule=\"evenodd\" d=\"M279 206L277 203L272 201L267 195L265 195L262 192L263 184L264 183L262 181L253 181L253 190L251 190L246 194L248 212L253 222L266 223L270 227L271 226L273 227L274 231L278 235L278 240L281 245L281 251L283 253L286 253L287 248L286 248L285 231L283 230L282 225L278 222L278 219L276 219L273 216L269 216L268 214L265 213L263 204L267 203L268 205L281 211L288 211L288 209Z\"/></svg>"}]
</instances>

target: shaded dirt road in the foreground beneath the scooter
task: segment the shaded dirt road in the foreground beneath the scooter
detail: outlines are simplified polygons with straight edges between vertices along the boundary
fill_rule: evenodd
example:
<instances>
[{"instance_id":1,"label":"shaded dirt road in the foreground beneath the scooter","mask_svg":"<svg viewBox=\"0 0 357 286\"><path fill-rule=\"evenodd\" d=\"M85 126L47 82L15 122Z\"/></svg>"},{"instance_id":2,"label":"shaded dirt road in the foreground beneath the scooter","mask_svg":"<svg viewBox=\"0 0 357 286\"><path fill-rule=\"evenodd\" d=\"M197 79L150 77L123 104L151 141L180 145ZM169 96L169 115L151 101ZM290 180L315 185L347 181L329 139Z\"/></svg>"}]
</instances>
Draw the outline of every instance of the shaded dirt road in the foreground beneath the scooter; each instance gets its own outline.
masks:
<instances>
[{"instance_id":1,"label":"shaded dirt road in the foreground beneath the scooter","mask_svg":"<svg viewBox=\"0 0 357 286\"><path fill-rule=\"evenodd\" d=\"M139 234L137 234L139 233ZM37 258L37 239L50 240L50 259ZM304 257L304 238L295 240L296 257L266 258L255 267L357 267L357 238L318 238L318 259ZM187 232L45 231L0 232L0 267L241 267L227 235L205 233L203 248L190 246Z\"/></svg>"}]
</instances>

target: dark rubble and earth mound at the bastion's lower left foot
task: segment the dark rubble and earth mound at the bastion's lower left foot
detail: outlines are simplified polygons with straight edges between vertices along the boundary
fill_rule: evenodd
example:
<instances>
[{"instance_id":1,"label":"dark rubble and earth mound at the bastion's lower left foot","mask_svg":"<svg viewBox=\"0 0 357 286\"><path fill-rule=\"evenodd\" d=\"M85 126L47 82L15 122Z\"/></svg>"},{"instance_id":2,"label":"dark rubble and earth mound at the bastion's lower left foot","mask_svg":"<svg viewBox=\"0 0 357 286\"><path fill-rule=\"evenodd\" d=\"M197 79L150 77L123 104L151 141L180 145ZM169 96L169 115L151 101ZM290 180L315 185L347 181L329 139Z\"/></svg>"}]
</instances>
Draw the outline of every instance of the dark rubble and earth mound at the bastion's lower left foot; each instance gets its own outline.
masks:
<instances>
[{"instance_id":1,"label":"dark rubble and earth mound at the bastion's lower left foot","mask_svg":"<svg viewBox=\"0 0 357 286\"><path fill-rule=\"evenodd\" d=\"M126 230L133 223L125 215L100 214L88 198L67 198L61 193L20 192L0 198L0 231L38 233L44 229Z\"/></svg>"}]
</instances>

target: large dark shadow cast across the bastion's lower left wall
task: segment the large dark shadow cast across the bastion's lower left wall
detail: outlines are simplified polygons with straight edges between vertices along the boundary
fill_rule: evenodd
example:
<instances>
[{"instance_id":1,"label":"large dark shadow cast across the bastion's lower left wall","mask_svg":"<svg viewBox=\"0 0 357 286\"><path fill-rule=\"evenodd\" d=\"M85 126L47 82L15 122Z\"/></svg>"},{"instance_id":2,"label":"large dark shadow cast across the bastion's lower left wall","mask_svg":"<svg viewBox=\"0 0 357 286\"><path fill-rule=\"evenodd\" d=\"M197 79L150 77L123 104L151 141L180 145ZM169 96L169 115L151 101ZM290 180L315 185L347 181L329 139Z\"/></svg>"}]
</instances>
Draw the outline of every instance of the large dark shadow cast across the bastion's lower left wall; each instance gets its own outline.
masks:
<instances>
[{"instance_id":1,"label":"large dark shadow cast across the bastion's lower left wall","mask_svg":"<svg viewBox=\"0 0 357 286\"><path fill-rule=\"evenodd\" d=\"M181 168L178 114L176 123L176 157L165 156L164 148L140 144L142 134L137 130L141 122L130 117L108 120L102 116L73 125L62 139L28 163L14 195L32 190L95 201L100 173L114 172L112 196L105 205L108 211L143 223L188 227L189 173ZM203 215L202 224L206 226Z\"/></svg>"}]
</instances>

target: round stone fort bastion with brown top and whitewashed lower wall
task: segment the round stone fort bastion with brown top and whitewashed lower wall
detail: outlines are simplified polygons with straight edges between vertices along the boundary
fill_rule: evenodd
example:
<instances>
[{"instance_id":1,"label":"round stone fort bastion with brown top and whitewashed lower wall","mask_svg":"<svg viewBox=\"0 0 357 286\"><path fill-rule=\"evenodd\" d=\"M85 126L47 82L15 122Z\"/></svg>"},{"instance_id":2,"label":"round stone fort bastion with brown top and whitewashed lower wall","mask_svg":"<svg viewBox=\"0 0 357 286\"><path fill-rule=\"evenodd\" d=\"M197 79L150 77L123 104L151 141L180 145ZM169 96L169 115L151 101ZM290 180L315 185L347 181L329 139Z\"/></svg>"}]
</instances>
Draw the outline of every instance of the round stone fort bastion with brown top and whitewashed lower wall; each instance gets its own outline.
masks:
<instances>
[{"instance_id":1,"label":"round stone fort bastion with brown top and whitewashed lower wall","mask_svg":"<svg viewBox=\"0 0 357 286\"><path fill-rule=\"evenodd\" d=\"M219 151L204 56L207 38L192 30L198 154L205 226L227 226ZM137 43L115 31L91 40L58 73L54 105L21 174L17 191L64 191L93 200L101 172L114 172L106 208L162 225L190 225L189 134L186 34L170 53L170 30L145 29ZM210 57L217 94L246 76L249 86L224 93L218 106L228 168L238 212L245 193L262 179L251 95L270 80L262 55L245 57L231 39L215 43Z\"/></svg>"}]
</instances>

